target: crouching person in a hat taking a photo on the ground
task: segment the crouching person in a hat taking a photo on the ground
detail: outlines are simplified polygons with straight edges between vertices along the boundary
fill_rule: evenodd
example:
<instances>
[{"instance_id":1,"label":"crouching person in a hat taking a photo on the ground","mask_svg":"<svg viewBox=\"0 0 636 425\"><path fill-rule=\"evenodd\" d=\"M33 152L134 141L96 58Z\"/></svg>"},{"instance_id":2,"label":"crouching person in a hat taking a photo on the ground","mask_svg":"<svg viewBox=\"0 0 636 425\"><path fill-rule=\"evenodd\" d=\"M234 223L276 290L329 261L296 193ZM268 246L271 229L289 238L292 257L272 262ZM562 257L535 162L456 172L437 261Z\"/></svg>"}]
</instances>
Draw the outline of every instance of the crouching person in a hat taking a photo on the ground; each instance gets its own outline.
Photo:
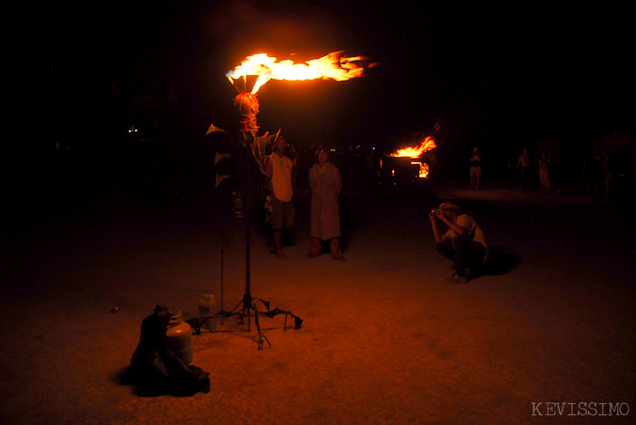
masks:
<instances>
[{"instance_id":1,"label":"crouching person in a hat taking a photo on the ground","mask_svg":"<svg viewBox=\"0 0 636 425\"><path fill-rule=\"evenodd\" d=\"M462 208L445 202L429 215L435 248L441 255L453 260L455 273L447 277L447 284L465 284L478 266L483 266L489 258L484 232L473 217L464 214ZM440 235L437 220L448 226Z\"/></svg>"}]
</instances>

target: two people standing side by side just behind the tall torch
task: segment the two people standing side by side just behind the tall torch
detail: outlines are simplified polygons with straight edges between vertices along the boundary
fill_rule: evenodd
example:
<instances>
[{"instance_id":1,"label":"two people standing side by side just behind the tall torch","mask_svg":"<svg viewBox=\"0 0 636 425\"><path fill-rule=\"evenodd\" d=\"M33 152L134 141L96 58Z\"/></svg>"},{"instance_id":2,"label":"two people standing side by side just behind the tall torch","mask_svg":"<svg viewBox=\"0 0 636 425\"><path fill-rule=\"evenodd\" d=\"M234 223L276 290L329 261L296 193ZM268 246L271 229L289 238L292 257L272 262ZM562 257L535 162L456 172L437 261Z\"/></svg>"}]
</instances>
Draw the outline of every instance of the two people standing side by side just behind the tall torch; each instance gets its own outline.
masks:
<instances>
[{"instance_id":1,"label":"two people standing side by side just behind the tall torch","mask_svg":"<svg viewBox=\"0 0 636 425\"><path fill-rule=\"evenodd\" d=\"M265 172L271 181L271 252L281 259L287 258L282 250L282 237L294 227L293 169L298 164L298 154L293 159L286 155L287 140L279 137L274 151L265 164ZM340 170L330 160L324 147L316 150L316 163L309 169L311 188L311 215L308 258L322 254L322 243L327 241L333 259L345 261L340 246L340 208L338 195L342 190Z\"/></svg>"}]
</instances>

